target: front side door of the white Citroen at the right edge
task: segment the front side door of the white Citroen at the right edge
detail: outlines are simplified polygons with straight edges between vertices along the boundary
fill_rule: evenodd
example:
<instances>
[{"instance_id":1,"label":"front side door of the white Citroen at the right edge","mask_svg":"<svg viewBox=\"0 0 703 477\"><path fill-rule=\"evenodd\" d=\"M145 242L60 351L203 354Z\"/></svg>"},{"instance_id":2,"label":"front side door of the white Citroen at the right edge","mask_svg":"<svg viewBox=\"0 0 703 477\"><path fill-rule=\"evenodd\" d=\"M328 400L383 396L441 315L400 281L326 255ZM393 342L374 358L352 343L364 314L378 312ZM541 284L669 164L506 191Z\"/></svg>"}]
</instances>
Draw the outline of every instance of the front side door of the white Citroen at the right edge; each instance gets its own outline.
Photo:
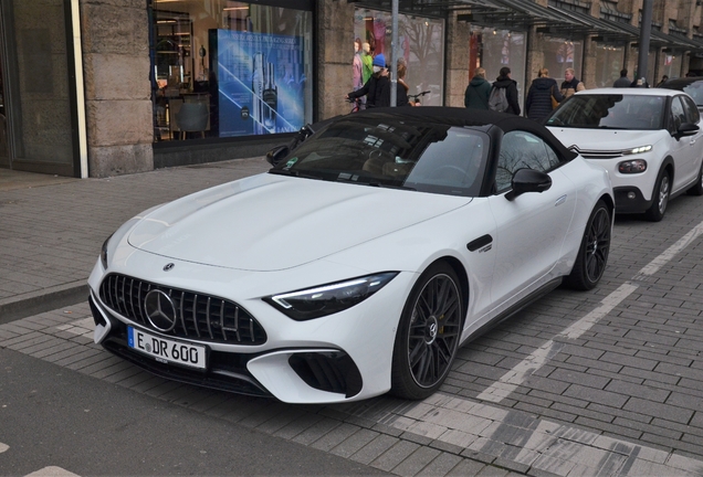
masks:
<instances>
[{"instance_id":1,"label":"front side door of the white Citroen at the right edge","mask_svg":"<svg viewBox=\"0 0 703 477\"><path fill-rule=\"evenodd\" d=\"M678 137L676 131L682 124L691 123L694 118L691 117L689 106L683 100L690 99L683 95L678 95L671 98L671 156L674 160L674 178L672 183L672 192L679 191L684 186L690 184L697 178L699 168L701 163L700 156L700 132L693 136ZM697 109L696 109L697 110ZM695 121L697 124L697 121ZM696 146L697 144L697 146Z\"/></svg>"}]
</instances>

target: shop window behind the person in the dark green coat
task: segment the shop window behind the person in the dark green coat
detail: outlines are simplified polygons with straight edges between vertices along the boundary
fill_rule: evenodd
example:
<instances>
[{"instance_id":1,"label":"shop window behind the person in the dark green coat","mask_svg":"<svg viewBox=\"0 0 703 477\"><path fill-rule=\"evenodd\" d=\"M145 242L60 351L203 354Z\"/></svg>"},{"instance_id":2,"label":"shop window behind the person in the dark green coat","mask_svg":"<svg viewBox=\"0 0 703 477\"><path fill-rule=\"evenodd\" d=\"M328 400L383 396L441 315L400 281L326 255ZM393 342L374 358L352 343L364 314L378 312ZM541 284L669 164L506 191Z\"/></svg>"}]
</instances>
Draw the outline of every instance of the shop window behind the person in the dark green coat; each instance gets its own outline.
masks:
<instances>
[{"instance_id":1,"label":"shop window behind the person in the dark green coat","mask_svg":"<svg viewBox=\"0 0 703 477\"><path fill-rule=\"evenodd\" d=\"M471 30L470 73L476 67L485 68L485 78L494 82L501 68L511 68L511 78L517 82L521 108L524 104L525 65L527 57L526 34L508 30L474 28Z\"/></svg>"}]
</instances>

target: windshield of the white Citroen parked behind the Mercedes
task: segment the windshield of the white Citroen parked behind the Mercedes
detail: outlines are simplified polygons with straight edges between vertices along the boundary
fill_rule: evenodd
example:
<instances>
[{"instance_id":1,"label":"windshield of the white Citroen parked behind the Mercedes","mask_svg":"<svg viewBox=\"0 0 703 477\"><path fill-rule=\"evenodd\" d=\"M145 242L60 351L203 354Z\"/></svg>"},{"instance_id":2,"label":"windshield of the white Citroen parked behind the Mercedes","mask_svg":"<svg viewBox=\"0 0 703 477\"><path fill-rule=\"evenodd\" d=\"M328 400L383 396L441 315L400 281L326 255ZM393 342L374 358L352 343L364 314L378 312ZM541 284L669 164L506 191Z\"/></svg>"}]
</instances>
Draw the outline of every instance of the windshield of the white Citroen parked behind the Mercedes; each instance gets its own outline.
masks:
<instances>
[{"instance_id":1,"label":"windshield of the white Citroen parked behind the Mercedes","mask_svg":"<svg viewBox=\"0 0 703 477\"><path fill-rule=\"evenodd\" d=\"M547 126L586 129L661 129L667 96L577 95L556 109Z\"/></svg>"}]
</instances>

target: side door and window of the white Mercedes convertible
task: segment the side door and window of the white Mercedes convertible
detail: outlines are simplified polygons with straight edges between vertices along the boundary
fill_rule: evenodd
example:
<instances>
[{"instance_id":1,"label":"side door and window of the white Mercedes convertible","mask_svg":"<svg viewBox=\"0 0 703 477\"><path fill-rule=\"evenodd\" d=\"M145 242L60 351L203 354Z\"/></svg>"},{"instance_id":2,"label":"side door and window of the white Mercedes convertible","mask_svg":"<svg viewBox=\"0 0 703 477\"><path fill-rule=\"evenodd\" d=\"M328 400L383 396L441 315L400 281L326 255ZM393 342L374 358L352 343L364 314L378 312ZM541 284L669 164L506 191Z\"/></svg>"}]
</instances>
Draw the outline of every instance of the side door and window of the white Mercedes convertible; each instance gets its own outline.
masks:
<instances>
[{"instance_id":1,"label":"side door and window of the white Mercedes convertible","mask_svg":"<svg viewBox=\"0 0 703 477\"><path fill-rule=\"evenodd\" d=\"M574 183L559 169L558 155L531 132L503 137L496 174L497 192L489 198L496 221L495 273L491 297L500 314L536 290L553 276L576 206ZM512 174L518 169L543 171L552 187L507 200Z\"/></svg>"}]
</instances>

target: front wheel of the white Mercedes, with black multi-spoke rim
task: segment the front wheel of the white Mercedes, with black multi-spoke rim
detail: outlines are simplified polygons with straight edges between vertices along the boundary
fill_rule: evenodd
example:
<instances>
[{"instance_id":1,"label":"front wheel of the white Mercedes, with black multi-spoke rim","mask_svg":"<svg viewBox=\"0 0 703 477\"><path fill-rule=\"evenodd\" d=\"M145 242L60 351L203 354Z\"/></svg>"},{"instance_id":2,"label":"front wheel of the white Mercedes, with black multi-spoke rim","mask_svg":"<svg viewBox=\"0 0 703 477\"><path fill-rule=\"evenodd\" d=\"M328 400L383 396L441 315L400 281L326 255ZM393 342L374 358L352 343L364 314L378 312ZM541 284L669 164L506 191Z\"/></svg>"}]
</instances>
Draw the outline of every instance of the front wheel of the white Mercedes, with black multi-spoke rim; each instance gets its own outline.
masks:
<instances>
[{"instance_id":1,"label":"front wheel of the white Mercedes, with black multi-spoke rim","mask_svg":"<svg viewBox=\"0 0 703 477\"><path fill-rule=\"evenodd\" d=\"M421 400L442 384L451 369L464 316L457 273L449 264L431 265L412 287L396 332L391 393Z\"/></svg>"}]
</instances>

